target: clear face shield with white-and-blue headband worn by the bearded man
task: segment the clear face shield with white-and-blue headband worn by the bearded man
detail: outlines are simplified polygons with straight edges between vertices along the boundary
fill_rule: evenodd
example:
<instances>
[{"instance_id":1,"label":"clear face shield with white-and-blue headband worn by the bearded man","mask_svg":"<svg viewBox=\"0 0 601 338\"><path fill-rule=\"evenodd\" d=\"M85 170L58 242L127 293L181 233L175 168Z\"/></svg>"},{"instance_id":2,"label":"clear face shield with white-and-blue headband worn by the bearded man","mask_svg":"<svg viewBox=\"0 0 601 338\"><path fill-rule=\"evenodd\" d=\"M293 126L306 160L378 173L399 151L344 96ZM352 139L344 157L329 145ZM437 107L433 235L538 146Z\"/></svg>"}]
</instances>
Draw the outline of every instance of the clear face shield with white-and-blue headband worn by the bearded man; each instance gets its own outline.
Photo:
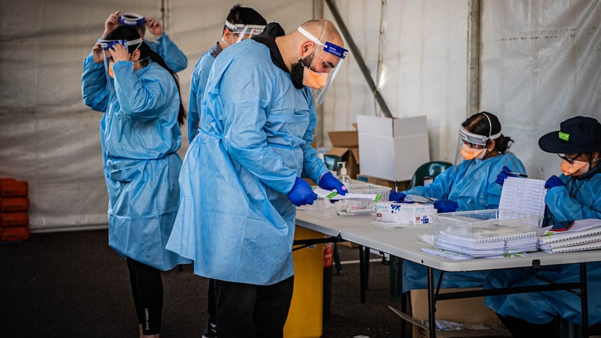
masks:
<instances>
[{"instance_id":1,"label":"clear face shield with white-and-blue headband worn by the bearded man","mask_svg":"<svg viewBox=\"0 0 601 338\"><path fill-rule=\"evenodd\" d=\"M324 22L324 27L325 26L326 26L326 23ZM299 33L303 34L303 36L305 36L305 38L308 38L316 45L324 47L323 49L319 49L319 47L315 49L315 54L313 55L311 64L308 67L305 66L306 67L305 68L305 76L303 77L303 82L309 82L310 78L317 79L316 81L310 81L311 82L310 84L305 84L305 83L303 83L303 84L305 84L305 86L310 86L314 89L317 89L317 93L315 93L315 100L317 100L317 102L321 105L321 103L324 102L324 98L326 98L326 93L328 93L328 89L330 89L332 82L334 81L334 79L336 78L336 75L340 71L342 63L344 63L344 59L347 57L347 54L349 53L349 51L348 51L348 49L344 49L343 47L340 47L340 46L330 43L328 41L326 41L326 43L321 43L321 38L324 34L324 29L321 29L321 36L319 39L316 38L315 36L313 36L311 33L306 31L305 29L303 29L303 27L298 27L298 29L296 29L296 30ZM335 56L334 59L336 59L337 62L335 63L335 67L332 70L330 70L330 72L320 73L320 72L315 72L314 70L311 69L313 61L315 59L317 59L318 52L326 52L327 53L326 56L324 56L324 58L323 58L324 60L332 59L331 56ZM301 61L301 63L302 63L302 61ZM323 81L321 79L325 79L325 81Z\"/></svg>"}]
</instances>

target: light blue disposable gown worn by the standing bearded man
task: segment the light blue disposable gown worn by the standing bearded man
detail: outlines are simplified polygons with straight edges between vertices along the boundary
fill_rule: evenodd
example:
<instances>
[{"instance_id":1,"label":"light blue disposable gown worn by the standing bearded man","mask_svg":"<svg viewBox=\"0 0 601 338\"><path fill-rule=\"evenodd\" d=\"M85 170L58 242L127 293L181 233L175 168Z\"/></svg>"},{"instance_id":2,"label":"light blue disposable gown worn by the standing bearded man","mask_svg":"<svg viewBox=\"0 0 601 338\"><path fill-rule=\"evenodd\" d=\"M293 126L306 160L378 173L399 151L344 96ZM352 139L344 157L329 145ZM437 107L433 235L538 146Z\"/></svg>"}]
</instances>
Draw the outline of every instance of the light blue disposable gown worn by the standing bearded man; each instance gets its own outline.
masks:
<instances>
[{"instance_id":1,"label":"light blue disposable gown worn by the standing bearded man","mask_svg":"<svg viewBox=\"0 0 601 338\"><path fill-rule=\"evenodd\" d=\"M201 124L183 162L167 249L204 277L271 285L294 274L296 177L328 171L310 146L312 92L296 89L266 45L249 39L215 59Z\"/></svg>"}]
</instances>

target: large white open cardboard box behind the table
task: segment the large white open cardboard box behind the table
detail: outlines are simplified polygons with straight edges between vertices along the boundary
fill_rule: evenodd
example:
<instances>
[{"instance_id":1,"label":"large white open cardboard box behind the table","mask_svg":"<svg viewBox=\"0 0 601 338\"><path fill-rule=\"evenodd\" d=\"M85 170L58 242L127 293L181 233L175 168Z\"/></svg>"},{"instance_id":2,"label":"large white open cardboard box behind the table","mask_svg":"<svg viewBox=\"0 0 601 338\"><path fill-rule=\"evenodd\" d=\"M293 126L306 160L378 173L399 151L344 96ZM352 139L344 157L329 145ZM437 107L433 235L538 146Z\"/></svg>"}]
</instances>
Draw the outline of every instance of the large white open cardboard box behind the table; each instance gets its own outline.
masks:
<instances>
[{"instance_id":1,"label":"large white open cardboard box behind the table","mask_svg":"<svg viewBox=\"0 0 601 338\"><path fill-rule=\"evenodd\" d=\"M411 180L429 162L426 116L357 116L361 174L385 180Z\"/></svg>"}]
</instances>

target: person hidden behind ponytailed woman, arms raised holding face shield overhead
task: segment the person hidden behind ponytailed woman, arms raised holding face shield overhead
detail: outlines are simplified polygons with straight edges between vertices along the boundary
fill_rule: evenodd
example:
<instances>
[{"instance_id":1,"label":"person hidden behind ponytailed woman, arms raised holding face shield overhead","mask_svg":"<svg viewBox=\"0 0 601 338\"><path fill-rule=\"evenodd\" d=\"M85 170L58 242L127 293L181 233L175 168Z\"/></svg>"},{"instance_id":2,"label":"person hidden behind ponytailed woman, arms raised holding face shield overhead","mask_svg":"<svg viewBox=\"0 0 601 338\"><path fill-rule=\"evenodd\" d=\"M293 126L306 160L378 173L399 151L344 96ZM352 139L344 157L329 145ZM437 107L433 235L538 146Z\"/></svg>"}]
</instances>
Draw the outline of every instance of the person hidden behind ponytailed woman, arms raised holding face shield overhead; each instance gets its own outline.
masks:
<instances>
[{"instance_id":1,"label":"person hidden behind ponytailed woman, arms raised holding face shield overhead","mask_svg":"<svg viewBox=\"0 0 601 338\"><path fill-rule=\"evenodd\" d=\"M107 36L110 31L113 31L118 26L128 26L137 29L142 40L144 40L146 29L148 29L148 31L156 38L157 42L144 40L144 43L165 60L169 69L174 72L180 72L188 66L188 58L181 52L171 38L167 36L167 33L163 31L160 21L155 20L152 17L144 17L144 15L138 13L117 10L107 17L107 20L105 21L105 32L102 34L102 37L104 38Z\"/></svg>"}]
</instances>

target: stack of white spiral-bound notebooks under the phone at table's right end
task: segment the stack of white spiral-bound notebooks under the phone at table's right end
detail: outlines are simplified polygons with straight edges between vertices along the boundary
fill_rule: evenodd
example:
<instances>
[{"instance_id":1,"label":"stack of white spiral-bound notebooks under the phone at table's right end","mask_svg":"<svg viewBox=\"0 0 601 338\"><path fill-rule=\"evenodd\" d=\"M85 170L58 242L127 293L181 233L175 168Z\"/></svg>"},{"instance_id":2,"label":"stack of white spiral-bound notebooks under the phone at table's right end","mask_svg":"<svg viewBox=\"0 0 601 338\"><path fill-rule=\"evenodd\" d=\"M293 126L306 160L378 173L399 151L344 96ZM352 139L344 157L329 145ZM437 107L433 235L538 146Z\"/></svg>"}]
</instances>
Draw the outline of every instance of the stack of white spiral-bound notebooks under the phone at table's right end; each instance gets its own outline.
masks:
<instances>
[{"instance_id":1,"label":"stack of white spiral-bound notebooks under the phone at table's right end","mask_svg":"<svg viewBox=\"0 0 601 338\"><path fill-rule=\"evenodd\" d=\"M589 218L572 222L568 229L547 231L538 240L544 252L577 252L601 249L601 220Z\"/></svg>"}]
</instances>

